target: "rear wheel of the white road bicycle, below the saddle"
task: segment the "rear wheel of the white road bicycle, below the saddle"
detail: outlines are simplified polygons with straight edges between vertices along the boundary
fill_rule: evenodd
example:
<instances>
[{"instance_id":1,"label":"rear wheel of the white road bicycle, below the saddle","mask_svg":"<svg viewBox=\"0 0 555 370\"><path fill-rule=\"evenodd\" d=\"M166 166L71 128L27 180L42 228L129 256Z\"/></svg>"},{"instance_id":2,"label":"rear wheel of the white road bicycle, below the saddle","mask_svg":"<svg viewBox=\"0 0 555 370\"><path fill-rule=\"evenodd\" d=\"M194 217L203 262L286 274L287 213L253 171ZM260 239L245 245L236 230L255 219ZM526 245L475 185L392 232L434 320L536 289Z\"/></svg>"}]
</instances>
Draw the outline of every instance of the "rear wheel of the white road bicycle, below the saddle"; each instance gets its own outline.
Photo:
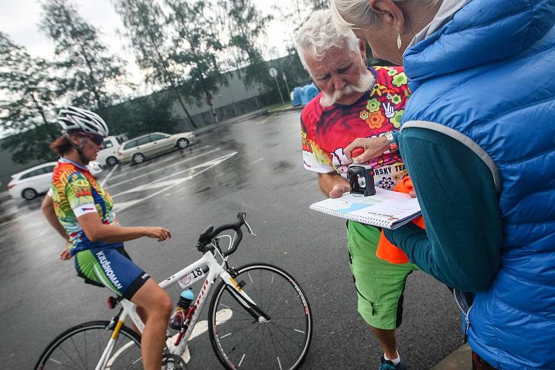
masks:
<instances>
[{"instance_id":1,"label":"rear wheel of the white road bicycle, below the saddle","mask_svg":"<svg viewBox=\"0 0 555 370\"><path fill-rule=\"evenodd\" d=\"M68 368L69 369L74 369L74 368L90 369L91 366L89 365L93 365L92 369L94 369L94 367L96 367L96 364L98 364L100 360L100 355L102 354L102 351L105 349L105 346L108 344L108 340L112 335L112 329L107 329L109 324L110 324L110 321L88 321L83 324L78 324L76 326L73 326L72 328L67 329L67 331L64 331L62 334L58 335L58 337L56 337L52 342L50 342L48 346L46 346L46 349L44 349L44 351L40 355L40 358L37 361L37 364L35 364L34 369L35 370L68 369ZM89 349L88 344L87 346L85 346L85 349L83 349L83 351L85 351L85 355L81 355L81 353L75 354L74 352L79 351L80 346L78 346L78 344L82 342L82 340L78 340L78 337L83 334L84 340L87 341L86 333L87 332L90 333L92 331L95 331L101 334L103 337L103 342L99 343L100 346L97 348L94 348L94 349L90 348L91 351L94 351L99 355L94 358L91 358L90 359L91 361L89 362L89 354L87 353ZM118 347L118 343L121 341L122 337L125 337L126 339L130 340L130 342L127 342L126 344L123 344L123 346ZM71 345L69 345L69 342L71 342ZM116 365L114 367L113 362L118 360L118 355L117 355L118 351L128 352L128 350L123 347L129 346L130 343L132 343L131 347L137 346L137 349L132 351L138 352L137 355L139 357L136 358L137 355L133 354L130 357L130 359L128 359L128 353L125 353L126 355L125 359L123 359L123 356L121 355L120 356L122 358L122 361L126 360L127 362L127 360L130 360L129 366L122 367L121 365L119 366ZM64 349L65 344L67 344L67 346L69 347L67 349L68 351L71 349L71 355L70 353L68 353L68 351L65 351ZM58 353L58 349L60 349L60 353L61 353L60 358L53 358L52 355L54 353ZM116 355L116 358L113 358L114 355ZM110 367L106 367L106 369L110 369L110 368L142 369L142 358L140 357L140 355L141 355L141 338L139 337L139 335L137 335L137 333L132 331L127 326L121 326L116 345L114 346L114 351L112 351L112 358L110 359L112 361L112 365ZM67 360L66 362L67 364L64 364L64 361L62 360L64 361ZM71 361L71 364L68 365L69 361ZM85 365L85 366L82 366L82 365Z\"/></svg>"}]
</instances>

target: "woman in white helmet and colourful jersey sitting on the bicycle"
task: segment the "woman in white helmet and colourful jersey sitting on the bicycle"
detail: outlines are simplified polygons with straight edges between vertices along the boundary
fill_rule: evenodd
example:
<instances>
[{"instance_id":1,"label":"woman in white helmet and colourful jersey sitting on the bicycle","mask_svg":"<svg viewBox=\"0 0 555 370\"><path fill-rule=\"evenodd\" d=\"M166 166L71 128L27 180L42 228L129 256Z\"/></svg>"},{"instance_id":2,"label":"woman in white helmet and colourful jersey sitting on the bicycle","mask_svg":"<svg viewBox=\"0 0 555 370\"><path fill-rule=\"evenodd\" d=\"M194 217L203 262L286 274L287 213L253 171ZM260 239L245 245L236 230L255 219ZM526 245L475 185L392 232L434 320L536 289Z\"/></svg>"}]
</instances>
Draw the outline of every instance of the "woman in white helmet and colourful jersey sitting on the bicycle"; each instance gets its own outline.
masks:
<instances>
[{"instance_id":1,"label":"woman in white helmet and colourful jersey sitting on the bicycle","mask_svg":"<svg viewBox=\"0 0 555 370\"><path fill-rule=\"evenodd\" d=\"M47 196L42 209L53 227L67 239L67 251L60 258L75 256L78 276L137 304L145 321L141 338L144 369L160 370L171 299L131 261L123 242L142 236L162 242L171 238L171 233L164 227L119 226L112 211L112 198L86 167L96 159L103 138L108 136L108 126L100 116L86 109L67 107L60 109L58 123L64 134L51 148L60 159L52 177L51 200ZM53 209L50 217L49 209Z\"/></svg>"}]
</instances>

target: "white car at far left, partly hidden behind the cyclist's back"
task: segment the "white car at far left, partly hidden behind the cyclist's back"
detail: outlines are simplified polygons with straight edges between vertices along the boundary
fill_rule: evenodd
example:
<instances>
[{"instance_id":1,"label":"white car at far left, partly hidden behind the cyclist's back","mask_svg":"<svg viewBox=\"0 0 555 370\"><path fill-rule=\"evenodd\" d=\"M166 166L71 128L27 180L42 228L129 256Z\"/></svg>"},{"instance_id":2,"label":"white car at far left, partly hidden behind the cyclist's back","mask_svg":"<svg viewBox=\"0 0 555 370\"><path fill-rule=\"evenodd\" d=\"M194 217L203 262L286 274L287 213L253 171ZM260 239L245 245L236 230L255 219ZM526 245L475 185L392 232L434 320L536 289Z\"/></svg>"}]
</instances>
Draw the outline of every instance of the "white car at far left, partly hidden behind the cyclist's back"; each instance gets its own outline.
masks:
<instances>
[{"instance_id":1,"label":"white car at far left, partly hidden behind the cyclist's back","mask_svg":"<svg viewBox=\"0 0 555 370\"><path fill-rule=\"evenodd\" d=\"M49 162L28 168L12 175L8 183L8 193L14 199L24 198L32 200L37 195L46 193L50 188L52 172L58 162Z\"/></svg>"}]
</instances>

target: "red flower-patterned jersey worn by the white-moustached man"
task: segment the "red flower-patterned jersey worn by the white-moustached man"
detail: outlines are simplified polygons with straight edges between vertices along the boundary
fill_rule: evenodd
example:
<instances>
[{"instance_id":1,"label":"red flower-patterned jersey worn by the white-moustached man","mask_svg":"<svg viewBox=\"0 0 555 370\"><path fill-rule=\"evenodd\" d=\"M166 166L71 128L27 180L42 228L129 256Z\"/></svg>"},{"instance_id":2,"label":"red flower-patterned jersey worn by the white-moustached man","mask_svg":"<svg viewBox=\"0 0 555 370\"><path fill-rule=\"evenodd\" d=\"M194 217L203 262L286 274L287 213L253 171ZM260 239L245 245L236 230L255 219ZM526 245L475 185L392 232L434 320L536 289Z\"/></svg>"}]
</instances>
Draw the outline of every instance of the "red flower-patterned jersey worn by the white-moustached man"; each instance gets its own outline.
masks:
<instances>
[{"instance_id":1,"label":"red flower-patterned jersey worn by the white-moustached man","mask_svg":"<svg viewBox=\"0 0 555 370\"><path fill-rule=\"evenodd\" d=\"M368 68L375 76L373 88L352 105L335 103L323 107L320 98L312 99L300 116L302 158L305 168L317 173L341 174L347 178L351 162L343 148L357 137L377 137L398 130L409 99L407 76L402 67ZM398 152L386 152L370 161L375 185L393 189L407 176Z\"/></svg>"}]
</instances>

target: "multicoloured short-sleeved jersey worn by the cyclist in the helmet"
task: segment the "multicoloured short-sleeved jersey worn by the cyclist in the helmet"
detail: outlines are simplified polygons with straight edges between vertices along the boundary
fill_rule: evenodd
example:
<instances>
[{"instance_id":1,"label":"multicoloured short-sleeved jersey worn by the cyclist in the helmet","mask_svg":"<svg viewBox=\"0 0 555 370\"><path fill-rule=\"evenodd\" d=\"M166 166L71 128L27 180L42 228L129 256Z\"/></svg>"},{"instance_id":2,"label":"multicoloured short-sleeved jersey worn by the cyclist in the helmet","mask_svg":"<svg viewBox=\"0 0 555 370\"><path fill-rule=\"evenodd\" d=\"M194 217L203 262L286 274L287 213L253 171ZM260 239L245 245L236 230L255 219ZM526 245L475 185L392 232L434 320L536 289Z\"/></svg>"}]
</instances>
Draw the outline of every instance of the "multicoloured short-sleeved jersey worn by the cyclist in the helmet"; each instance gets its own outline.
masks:
<instances>
[{"instance_id":1,"label":"multicoloured short-sleeved jersey worn by the cyclist in the helmet","mask_svg":"<svg viewBox=\"0 0 555 370\"><path fill-rule=\"evenodd\" d=\"M61 158L52 175L51 195L54 211L69 236L69 252L91 248L116 248L122 243L92 242L77 218L86 213L99 213L103 224L119 225L112 211L112 197L96 182L87 168Z\"/></svg>"}]
</instances>

